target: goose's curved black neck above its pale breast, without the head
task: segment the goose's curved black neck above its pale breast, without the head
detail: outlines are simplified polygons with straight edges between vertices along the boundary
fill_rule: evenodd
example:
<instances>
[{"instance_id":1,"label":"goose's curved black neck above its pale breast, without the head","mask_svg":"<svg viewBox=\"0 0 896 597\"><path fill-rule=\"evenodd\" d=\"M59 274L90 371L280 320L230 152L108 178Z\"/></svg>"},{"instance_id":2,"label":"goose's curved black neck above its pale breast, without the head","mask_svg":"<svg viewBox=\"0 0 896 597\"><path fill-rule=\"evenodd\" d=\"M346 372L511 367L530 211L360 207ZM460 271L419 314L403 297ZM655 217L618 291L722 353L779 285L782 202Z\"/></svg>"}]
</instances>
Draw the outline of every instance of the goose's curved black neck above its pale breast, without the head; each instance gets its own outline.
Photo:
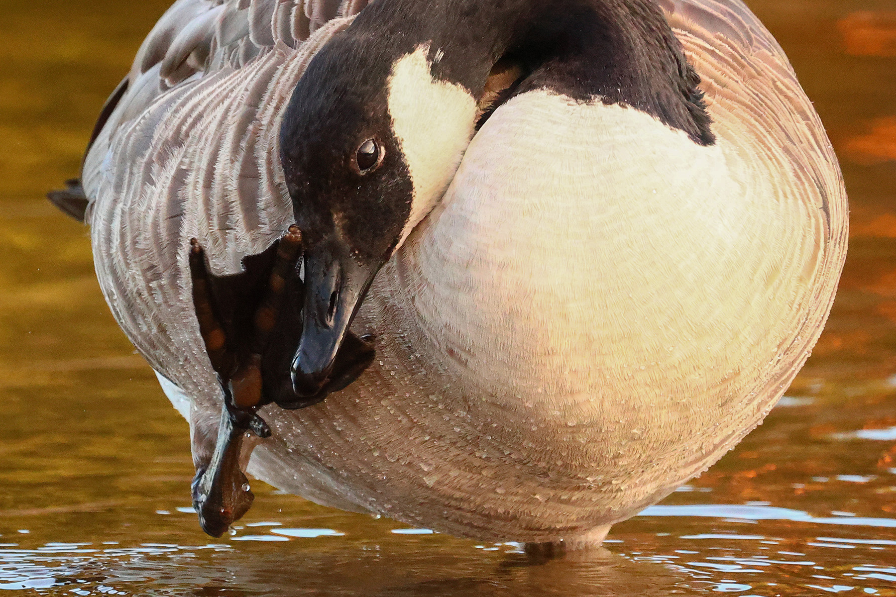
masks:
<instances>
[{"instance_id":1,"label":"goose's curved black neck above its pale breast, without the head","mask_svg":"<svg viewBox=\"0 0 896 597\"><path fill-rule=\"evenodd\" d=\"M504 57L525 72L516 94L623 104L714 141L700 77L652 0L375 0L349 31L396 55L429 43L433 75L476 98Z\"/></svg>"}]
</instances>

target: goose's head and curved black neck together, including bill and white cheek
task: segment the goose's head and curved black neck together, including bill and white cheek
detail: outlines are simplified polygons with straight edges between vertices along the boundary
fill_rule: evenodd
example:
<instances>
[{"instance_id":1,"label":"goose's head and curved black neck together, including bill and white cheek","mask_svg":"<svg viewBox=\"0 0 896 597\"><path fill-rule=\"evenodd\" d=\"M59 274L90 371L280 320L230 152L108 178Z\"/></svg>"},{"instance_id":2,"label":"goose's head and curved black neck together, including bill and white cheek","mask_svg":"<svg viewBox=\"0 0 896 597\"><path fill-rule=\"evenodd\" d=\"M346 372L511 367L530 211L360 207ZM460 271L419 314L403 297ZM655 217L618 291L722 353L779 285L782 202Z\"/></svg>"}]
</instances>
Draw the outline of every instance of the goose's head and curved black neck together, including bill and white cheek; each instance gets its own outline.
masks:
<instances>
[{"instance_id":1,"label":"goose's head and curved black neck together, including bill and white cheek","mask_svg":"<svg viewBox=\"0 0 896 597\"><path fill-rule=\"evenodd\" d=\"M499 69L510 93L495 93L489 75L508 63L519 65L510 79ZM711 142L697 82L650 0L368 5L314 55L280 131L306 238L297 394L323 388L376 272L441 199L501 101L548 89L625 103Z\"/></svg>"}]
</instances>

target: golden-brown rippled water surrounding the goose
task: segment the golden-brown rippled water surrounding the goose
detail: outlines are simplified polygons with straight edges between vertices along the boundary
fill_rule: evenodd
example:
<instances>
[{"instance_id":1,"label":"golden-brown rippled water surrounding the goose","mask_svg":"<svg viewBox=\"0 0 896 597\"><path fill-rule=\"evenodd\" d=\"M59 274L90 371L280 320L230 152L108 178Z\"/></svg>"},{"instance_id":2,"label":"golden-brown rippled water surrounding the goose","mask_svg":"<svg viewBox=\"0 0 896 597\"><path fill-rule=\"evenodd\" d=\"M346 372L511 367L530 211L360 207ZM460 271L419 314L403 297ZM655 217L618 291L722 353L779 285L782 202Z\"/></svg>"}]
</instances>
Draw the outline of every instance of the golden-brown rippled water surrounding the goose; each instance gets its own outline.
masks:
<instances>
[{"instance_id":1,"label":"golden-brown rippled water surrounding the goose","mask_svg":"<svg viewBox=\"0 0 896 597\"><path fill-rule=\"evenodd\" d=\"M896 1L754 0L841 158L849 260L762 427L609 535L543 560L254 482L221 540L187 425L108 313L87 230L43 193L164 0L0 1L0 591L47 595L896 595Z\"/></svg>"}]
</instances>

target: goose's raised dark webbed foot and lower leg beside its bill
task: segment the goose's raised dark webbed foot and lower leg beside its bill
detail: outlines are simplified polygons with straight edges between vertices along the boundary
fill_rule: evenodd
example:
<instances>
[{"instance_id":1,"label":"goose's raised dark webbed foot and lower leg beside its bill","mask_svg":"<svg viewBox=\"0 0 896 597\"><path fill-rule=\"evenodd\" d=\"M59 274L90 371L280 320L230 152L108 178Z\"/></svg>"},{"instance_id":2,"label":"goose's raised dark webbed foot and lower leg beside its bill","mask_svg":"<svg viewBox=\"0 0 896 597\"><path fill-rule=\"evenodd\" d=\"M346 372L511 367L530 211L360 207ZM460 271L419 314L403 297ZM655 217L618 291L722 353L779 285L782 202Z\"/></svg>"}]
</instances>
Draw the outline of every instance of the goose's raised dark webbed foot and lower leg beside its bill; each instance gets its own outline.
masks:
<instances>
[{"instance_id":1,"label":"goose's raised dark webbed foot and lower leg beside its bill","mask_svg":"<svg viewBox=\"0 0 896 597\"><path fill-rule=\"evenodd\" d=\"M196 466L193 501L202 529L220 537L254 499L240 465L248 457L243 448L249 432L271 435L258 409L271 403L305 408L345 388L373 362L374 337L349 331L323 388L314 396L297 394L290 368L302 337L305 303L297 226L268 250L247 256L244 271L233 276L211 274L202 247L196 240L191 244L196 318L224 395L215 448L207 462Z\"/></svg>"}]
</instances>

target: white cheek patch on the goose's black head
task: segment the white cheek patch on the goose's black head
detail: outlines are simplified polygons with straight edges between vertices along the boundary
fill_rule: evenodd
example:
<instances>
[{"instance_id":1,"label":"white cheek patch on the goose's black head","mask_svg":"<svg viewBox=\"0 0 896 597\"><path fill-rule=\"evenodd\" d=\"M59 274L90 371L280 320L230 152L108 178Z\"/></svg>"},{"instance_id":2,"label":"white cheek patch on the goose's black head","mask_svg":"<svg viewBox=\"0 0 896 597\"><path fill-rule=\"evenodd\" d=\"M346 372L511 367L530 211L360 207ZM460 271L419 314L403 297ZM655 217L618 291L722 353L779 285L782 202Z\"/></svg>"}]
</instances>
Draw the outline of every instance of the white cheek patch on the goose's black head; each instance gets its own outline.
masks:
<instances>
[{"instance_id":1,"label":"white cheek patch on the goose's black head","mask_svg":"<svg viewBox=\"0 0 896 597\"><path fill-rule=\"evenodd\" d=\"M404 55L389 78L392 129L408 163L414 199L399 244L442 198L476 124L476 100L461 85L437 81L426 60L429 45Z\"/></svg>"}]
</instances>

